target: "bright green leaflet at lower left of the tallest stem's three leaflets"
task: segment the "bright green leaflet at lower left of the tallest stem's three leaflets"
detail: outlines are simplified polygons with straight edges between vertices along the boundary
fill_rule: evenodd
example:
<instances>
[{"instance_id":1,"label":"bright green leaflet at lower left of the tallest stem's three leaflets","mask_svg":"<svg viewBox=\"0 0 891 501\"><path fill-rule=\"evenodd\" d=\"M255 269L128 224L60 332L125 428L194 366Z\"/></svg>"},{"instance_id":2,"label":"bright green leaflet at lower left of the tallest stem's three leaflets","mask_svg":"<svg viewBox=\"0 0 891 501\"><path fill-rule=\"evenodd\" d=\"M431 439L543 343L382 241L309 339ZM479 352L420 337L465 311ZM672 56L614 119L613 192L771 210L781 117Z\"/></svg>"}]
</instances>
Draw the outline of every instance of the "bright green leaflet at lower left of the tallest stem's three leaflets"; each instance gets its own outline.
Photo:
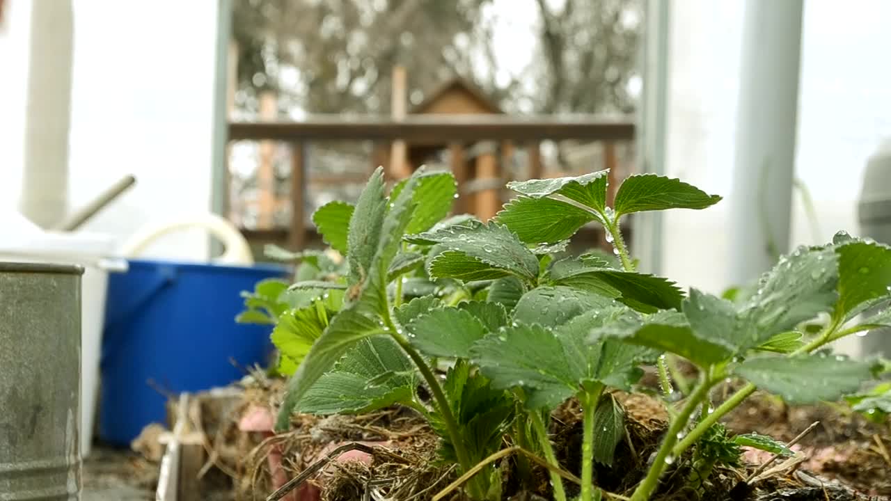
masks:
<instances>
[{"instance_id":1,"label":"bright green leaflet at lower left of the tallest stem's three leaflets","mask_svg":"<svg viewBox=\"0 0 891 501\"><path fill-rule=\"evenodd\" d=\"M591 212L564 201L520 196L495 216L523 242L560 242L593 221Z\"/></svg>"}]
</instances>

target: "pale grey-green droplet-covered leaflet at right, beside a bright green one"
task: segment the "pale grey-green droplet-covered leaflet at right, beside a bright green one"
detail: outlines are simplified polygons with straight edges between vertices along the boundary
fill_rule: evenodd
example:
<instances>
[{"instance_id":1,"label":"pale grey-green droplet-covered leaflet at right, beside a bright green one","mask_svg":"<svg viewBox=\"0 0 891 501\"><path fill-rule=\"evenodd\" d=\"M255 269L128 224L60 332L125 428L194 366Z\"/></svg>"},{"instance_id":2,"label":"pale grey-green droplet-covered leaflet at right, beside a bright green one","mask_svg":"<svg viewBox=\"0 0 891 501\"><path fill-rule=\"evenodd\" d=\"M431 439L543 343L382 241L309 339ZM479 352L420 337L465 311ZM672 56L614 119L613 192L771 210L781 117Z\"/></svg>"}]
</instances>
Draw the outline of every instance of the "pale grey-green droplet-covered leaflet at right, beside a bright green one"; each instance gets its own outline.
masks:
<instances>
[{"instance_id":1,"label":"pale grey-green droplet-covered leaflet at right, beside a bright green one","mask_svg":"<svg viewBox=\"0 0 891 501\"><path fill-rule=\"evenodd\" d=\"M749 346L832 311L838 299L836 263L831 247L800 247L762 275L757 292L740 311L740 317L752 328L754 337Z\"/></svg>"}]
</instances>

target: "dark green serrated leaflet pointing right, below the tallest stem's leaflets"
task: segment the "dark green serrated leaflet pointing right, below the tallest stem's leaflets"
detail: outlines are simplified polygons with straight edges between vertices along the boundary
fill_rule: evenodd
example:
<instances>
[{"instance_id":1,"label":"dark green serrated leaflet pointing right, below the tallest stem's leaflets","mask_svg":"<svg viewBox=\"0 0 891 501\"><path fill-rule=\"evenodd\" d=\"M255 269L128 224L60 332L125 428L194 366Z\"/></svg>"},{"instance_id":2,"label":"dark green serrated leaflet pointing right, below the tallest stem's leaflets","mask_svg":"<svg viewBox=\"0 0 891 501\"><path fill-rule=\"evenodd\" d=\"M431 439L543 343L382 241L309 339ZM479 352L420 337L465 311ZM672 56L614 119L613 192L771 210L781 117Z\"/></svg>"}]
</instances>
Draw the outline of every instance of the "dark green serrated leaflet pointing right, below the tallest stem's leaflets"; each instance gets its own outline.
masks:
<instances>
[{"instance_id":1,"label":"dark green serrated leaflet pointing right, below the tallest stem's leaflets","mask_svg":"<svg viewBox=\"0 0 891 501\"><path fill-rule=\"evenodd\" d=\"M680 308L683 292L670 280L655 275L617 271L609 268L552 267L551 280L559 285L597 292L609 297L621 297L647 305L648 312L656 309Z\"/></svg>"}]
</instances>

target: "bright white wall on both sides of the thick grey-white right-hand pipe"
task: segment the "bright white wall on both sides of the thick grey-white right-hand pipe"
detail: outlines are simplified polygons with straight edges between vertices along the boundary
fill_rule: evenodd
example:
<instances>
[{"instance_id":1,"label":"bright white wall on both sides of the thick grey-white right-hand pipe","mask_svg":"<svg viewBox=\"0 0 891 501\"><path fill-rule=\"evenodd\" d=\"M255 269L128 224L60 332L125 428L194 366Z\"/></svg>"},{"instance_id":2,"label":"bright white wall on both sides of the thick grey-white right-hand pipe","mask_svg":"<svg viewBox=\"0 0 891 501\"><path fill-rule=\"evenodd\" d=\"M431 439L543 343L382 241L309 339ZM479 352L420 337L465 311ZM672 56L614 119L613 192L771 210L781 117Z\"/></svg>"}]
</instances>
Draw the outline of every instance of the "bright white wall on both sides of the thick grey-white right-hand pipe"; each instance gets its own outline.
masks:
<instances>
[{"instance_id":1,"label":"bright white wall on both sides of the thick grey-white right-hand pipe","mask_svg":"<svg viewBox=\"0 0 891 501\"><path fill-rule=\"evenodd\" d=\"M666 174L730 194L743 2L672 3ZM793 199L791 246L858 232L856 200L866 159L891 136L891 3L805 3L796 175L811 191L814 235ZM663 274L722 292L729 283L729 200L666 213Z\"/></svg>"}]
</instances>

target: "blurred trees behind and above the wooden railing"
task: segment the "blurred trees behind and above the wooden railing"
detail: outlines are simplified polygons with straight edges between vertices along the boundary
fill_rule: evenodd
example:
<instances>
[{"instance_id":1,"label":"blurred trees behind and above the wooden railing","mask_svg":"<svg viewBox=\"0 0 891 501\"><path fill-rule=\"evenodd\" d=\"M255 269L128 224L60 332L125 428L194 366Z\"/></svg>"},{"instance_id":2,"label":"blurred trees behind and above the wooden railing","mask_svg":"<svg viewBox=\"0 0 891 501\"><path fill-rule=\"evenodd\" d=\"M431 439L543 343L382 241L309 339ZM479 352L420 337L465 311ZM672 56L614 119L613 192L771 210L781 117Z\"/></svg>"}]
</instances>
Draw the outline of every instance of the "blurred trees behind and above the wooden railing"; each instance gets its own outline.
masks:
<instances>
[{"instance_id":1,"label":"blurred trees behind and above the wooden railing","mask_svg":"<svg viewBox=\"0 0 891 501\"><path fill-rule=\"evenodd\" d=\"M505 78L495 20L517 2L537 9L535 57ZM413 104L461 77L505 111L628 112L641 27L641 0L235 0L236 105L274 90L286 114L388 113L400 64Z\"/></svg>"}]
</instances>

